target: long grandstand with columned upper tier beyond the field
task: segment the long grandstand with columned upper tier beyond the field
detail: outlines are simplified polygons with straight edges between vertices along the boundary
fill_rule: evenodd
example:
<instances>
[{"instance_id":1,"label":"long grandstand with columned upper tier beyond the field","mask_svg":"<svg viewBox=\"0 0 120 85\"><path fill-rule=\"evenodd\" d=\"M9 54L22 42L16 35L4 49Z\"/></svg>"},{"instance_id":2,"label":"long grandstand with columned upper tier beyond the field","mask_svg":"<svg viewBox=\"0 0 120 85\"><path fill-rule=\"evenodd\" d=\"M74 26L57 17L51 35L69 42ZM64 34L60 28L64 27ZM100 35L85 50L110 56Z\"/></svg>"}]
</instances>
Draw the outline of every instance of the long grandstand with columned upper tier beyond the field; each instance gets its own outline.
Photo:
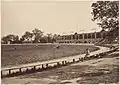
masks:
<instances>
[{"instance_id":1,"label":"long grandstand with columned upper tier beyond the field","mask_svg":"<svg viewBox=\"0 0 120 85\"><path fill-rule=\"evenodd\" d=\"M106 37L107 32L102 30L100 32L60 35L57 43L97 43Z\"/></svg>"}]
</instances>

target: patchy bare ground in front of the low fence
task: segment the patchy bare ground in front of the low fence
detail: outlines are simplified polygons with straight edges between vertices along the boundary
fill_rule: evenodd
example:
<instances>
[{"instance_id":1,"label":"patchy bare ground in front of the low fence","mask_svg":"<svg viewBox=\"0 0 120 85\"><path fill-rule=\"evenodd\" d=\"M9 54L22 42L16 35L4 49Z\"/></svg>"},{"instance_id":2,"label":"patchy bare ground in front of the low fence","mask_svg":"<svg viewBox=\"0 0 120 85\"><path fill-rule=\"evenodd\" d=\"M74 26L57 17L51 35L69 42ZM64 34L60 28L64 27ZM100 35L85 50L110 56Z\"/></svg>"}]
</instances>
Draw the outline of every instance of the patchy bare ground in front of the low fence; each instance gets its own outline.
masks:
<instances>
[{"instance_id":1,"label":"patchy bare ground in front of the low fence","mask_svg":"<svg viewBox=\"0 0 120 85\"><path fill-rule=\"evenodd\" d=\"M119 52L61 68L2 79L4 84L98 84L119 82Z\"/></svg>"}]
</instances>

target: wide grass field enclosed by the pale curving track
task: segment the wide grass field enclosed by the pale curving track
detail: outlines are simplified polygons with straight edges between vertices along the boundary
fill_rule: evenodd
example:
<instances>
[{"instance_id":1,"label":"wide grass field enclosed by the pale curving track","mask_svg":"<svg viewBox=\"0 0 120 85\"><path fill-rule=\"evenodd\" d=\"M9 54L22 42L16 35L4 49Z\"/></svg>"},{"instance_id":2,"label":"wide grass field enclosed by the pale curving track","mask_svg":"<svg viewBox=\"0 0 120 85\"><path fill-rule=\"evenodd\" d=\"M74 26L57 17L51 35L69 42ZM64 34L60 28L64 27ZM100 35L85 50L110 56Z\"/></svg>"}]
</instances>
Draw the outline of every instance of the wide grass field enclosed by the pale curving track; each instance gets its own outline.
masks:
<instances>
[{"instance_id":1,"label":"wide grass field enclosed by the pale curving track","mask_svg":"<svg viewBox=\"0 0 120 85\"><path fill-rule=\"evenodd\" d=\"M2 45L1 66L10 67L39 61L57 59L61 57L83 54L86 48L95 51L98 48L90 45Z\"/></svg>"}]
</instances>

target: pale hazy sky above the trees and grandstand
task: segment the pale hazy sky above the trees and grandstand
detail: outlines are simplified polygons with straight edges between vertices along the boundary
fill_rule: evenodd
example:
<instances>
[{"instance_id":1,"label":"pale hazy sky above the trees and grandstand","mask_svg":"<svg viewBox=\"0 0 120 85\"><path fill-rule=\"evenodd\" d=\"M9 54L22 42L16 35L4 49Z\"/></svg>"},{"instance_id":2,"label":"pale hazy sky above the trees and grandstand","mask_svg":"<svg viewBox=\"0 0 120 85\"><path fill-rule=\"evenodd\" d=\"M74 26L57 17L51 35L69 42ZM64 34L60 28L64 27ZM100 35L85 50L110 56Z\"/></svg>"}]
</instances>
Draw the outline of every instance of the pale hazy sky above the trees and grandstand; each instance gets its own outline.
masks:
<instances>
[{"instance_id":1,"label":"pale hazy sky above the trees and grandstand","mask_svg":"<svg viewBox=\"0 0 120 85\"><path fill-rule=\"evenodd\" d=\"M25 31L39 28L45 33L68 34L90 32L97 28L91 20L90 1L79 2L2 2L1 34L23 35ZM82 31L83 32L83 31Z\"/></svg>"}]
</instances>

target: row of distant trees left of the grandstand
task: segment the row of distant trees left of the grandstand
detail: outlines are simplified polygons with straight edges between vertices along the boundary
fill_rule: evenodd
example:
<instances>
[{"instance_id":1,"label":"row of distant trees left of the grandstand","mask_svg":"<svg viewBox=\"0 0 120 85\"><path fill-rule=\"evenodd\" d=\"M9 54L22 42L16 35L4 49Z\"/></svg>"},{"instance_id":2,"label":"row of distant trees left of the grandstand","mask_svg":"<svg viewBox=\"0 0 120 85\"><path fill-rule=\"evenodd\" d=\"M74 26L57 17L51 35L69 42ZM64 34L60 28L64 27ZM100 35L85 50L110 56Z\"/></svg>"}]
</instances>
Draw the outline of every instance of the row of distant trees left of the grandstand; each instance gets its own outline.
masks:
<instances>
[{"instance_id":1,"label":"row of distant trees left of the grandstand","mask_svg":"<svg viewBox=\"0 0 120 85\"><path fill-rule=\"evenodd\" d=\"M22 37L18 35L9 34L3 36L1 39L2 44L20 44L20 43L53 43L59 35L48 33L44 34L43 31L35 28L32 32L26 31Z\"/></svg>"}]
</instances>

